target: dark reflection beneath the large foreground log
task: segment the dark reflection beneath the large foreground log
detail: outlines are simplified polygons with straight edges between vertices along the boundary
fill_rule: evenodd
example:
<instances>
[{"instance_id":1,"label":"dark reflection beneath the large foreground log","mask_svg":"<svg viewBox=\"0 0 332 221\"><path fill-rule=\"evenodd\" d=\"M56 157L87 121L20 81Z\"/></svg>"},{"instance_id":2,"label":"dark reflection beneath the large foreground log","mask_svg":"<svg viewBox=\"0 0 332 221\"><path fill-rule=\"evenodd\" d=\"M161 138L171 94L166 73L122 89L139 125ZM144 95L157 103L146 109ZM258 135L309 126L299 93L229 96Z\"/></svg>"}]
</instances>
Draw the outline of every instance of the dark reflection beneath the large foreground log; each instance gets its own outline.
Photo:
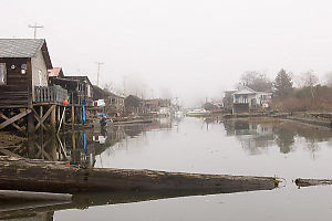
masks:
<instances>
[{"instance_id":1,"label":"dark reflection beneath the large foreground log","mask_svg":"<svg viewBox=\"0 0 332 221\"><path fill-rule=\"evenodd\" d=\"M132 192L93 192L74 194L71 202L54 201L11 201L0 202L0 220L44 220L53 221L54 212L68 209L86 210L91 207L120 204L169 199L186 196L204 196L209 192L198 191L132 191ZM216 192L214 192L216 194Z\"/></svg>"}]
</instances>

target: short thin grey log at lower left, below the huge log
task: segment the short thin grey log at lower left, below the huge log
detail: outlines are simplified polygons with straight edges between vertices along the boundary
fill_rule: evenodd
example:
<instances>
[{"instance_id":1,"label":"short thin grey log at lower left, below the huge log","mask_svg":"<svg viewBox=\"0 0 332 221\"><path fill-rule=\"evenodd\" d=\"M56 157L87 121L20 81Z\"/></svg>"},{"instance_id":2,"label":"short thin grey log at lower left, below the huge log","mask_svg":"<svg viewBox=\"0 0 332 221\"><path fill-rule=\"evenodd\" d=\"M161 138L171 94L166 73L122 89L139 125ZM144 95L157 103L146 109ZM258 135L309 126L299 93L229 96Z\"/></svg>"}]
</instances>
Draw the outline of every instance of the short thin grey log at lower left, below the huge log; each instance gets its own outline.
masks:
<instances>
[{"instance_id":1,"label":"short thin grey log at lower left, below the huge log","mask_svg":"<svg viewBox=\"0 0 332 221\"><path fill-rule=\"evenodd\" d=\"M68 194L68 193L0 190L0 200L70 201L71 199L72 199L72 194Z\"/></svg>"}]
</instances>

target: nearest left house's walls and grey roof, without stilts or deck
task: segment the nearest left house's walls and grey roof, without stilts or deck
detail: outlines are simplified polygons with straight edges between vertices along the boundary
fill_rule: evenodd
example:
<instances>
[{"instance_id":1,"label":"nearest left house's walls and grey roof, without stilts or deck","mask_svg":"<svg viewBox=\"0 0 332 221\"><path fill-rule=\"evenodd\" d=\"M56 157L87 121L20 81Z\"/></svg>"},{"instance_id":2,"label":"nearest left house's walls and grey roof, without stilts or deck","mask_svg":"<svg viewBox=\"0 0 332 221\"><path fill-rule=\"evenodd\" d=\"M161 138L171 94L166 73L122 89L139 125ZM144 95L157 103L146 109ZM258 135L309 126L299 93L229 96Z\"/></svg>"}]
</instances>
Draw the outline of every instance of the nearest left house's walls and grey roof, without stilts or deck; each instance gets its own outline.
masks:
<instances>
[{"instance_id":1,"label":"nearest left house's walls and grey roof, without stilts or deck","mask_svg":"<svg viewBox=\"0 0 332 221\"><path fill-rule=\"evenodd\" d=\"M44 39L0 39L0 107L30 107L52 70Z\"/></svg>"}]
</instances>

